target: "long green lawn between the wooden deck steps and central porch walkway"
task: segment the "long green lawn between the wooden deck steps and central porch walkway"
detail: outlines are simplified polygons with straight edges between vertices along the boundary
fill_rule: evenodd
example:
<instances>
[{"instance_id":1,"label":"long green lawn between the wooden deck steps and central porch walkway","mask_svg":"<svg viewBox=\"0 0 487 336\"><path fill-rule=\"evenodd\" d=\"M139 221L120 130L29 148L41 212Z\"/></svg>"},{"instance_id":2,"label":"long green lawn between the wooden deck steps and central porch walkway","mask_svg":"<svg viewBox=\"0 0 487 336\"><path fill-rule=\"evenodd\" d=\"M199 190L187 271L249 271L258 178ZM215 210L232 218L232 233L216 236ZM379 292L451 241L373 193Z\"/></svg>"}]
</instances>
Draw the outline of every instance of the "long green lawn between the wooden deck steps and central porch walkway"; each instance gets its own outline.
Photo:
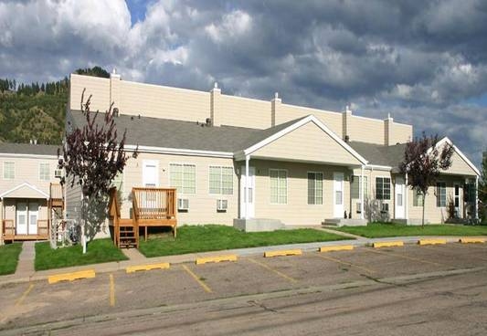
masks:
<instances>
[{"instance_id":1,"label":"long green lawn between the wooden deck steps and central porch walkway","mask_svg":"<svg viewBox=\"0 0 487 336\"><path fill-rule=\"evenodd\" d=\"M232 226L182 226L172 236L141 239L139 250L145 257L174 256L185 253L218 251L244 247L322 242L349 239L310 228L245 233Z\"/></svg>"}]
</instances>

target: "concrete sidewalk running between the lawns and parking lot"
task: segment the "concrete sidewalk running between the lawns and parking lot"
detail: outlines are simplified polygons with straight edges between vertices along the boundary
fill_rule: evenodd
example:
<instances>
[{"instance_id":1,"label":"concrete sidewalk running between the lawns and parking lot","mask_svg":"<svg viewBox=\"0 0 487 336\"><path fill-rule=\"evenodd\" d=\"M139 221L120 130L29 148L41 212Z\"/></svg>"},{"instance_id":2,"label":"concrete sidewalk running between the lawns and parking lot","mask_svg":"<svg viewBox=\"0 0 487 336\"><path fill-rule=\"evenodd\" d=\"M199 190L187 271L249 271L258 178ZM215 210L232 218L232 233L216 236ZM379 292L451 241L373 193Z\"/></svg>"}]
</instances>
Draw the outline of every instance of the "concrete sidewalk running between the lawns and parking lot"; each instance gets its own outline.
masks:
<instances>
[{"instance_id":1,"label":"concrete sidewalk running between the lawns and parking lot","mask_svg":"<svg viewBox=\"0 0 487 336\"><path fill-rule=\"evenodd\" d=\"M316 228L316 227L315 227ZM334 233L340 234L344 236L343 232L335 231L333 229L326 228L323 230ZM314 252L317 251L319 247L333 247L333 246L341 246L341 245L352 245L354 247L366 247L370 246L375 242L386 242L386 241L403 241L405 244L416 244L418 243L419 239L433 239L433 238L442 238L446 239L448 243L458 242L459 239L463 236L394 236L394 237L385 237L385 238L365 238L360 236L358 239L346 239L346 240L335 240L335 241L328 241L328 242L317 242L317 243L302 243L302 244L288 244L288 245L280 245L280 246L271 246L271 247L249 247L249 248L237 248L237 249L229 249L229 250L221 250L221 251L212 251L212 252L202 252L202 253L189 253L185 255L178 255L178 256L166 256L166 257L144 257L138 250L129 249L125 250L122 249L123 253L130 257L129 260L124 260L120 262L110 262L110 263L103 263L103 264L93 264L93 265L86 265L86 266L78 266L72 268L56 268L56 269L49 269L43 271L34 271L33 261L32 260L32 269L27 268L26 266L22 266L22 270L19 270L17 267L17 272L14 275L9 276L2 276L0 277L0 286L5 285L7 283L13 282L28 282L28 281L35 281L35 280L42 280L47 279L51 275L59 274L59 273L69 273L75 272L82 269L94 269L96 273L106 273L106 272L115 272L118 270L123 270L129 266L137 266L137 265L147 265L147 264L156 264L156 263L163 263L167 262L170 264L180 264L185 262L195 262L196 258L198 257L215 257L215 256L225 256L225 255L237 255L238 257L250 257L250 256L263 256L265 251L276 251L276 250L283 250L283 249L302 249L302 252ZM487 238L487 236L470 236L470 237L479 237L479 238ZM24 243L25 244L25 243ZM32 244L32 249L34 244ZM25 253L26 259L31 256L30 246L27 245L27 250ZM21 254L22 255L22 254ZM21 265L26 265L25 263L19 263L19 267Z\"/></svg>"}]
</instances>

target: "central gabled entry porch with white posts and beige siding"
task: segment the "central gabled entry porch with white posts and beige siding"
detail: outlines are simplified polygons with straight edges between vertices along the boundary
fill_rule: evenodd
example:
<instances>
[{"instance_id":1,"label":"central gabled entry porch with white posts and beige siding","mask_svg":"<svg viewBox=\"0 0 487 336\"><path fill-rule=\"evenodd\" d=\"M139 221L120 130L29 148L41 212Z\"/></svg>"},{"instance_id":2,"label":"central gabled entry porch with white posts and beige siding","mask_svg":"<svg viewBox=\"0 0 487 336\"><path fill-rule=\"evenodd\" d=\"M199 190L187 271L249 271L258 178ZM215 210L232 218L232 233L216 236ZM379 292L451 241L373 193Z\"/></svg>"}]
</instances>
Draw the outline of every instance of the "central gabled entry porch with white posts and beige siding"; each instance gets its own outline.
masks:
<instances>
[{"instance_id":1,"label":"central gabled entry porch with white posts and beige siding","mask_svg":"<svg viewBox=\"0 0 487 336\"><path fill-rule=\"evenodd\" d=\"M248 224L257 221L259 226L264 220L276 222L272 226L316 226L325 219L344 220L345 214L348 219L350 178L366 164L313 116L291 123L235 158L239 208L234 226L246 230ZM363 214L354 219L365 223Z\"/></svg>"}]
</instances>

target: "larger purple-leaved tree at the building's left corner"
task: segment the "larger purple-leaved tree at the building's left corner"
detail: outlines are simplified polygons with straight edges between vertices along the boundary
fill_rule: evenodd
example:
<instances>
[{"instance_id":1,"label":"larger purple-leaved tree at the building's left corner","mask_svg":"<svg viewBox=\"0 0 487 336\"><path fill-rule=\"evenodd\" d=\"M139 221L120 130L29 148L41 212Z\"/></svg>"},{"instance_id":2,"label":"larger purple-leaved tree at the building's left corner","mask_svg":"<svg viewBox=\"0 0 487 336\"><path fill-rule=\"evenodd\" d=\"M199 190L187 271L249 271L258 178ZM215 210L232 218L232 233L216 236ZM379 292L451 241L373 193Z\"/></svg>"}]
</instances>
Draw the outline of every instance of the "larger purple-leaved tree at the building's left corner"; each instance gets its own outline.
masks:
<instances>
[{"instance_id":1,"label":"larger purple-leaved tree at the building's left corner","mask_svg":"<svg viewBox=\"0 0 487 336\"><path fill-rule=\"evenodd\" d=\"M84 93L83 90L81 112L86 122L72 130L68 123L58 167L66 172L61 184L68 183L71 188L79 185L81 190L79 227L83 253L86 253L88 242L100 232L101 224L106 220L111 182L123 172L130 155L124 149L127 130L119 139L113 104L104 114L98 110L92 112L91 96L85 102ZM132 152L132 157L135 158L137 152L137 149ZM60 157L60 152L58 155Z\"/></svg>"}]
</instances>

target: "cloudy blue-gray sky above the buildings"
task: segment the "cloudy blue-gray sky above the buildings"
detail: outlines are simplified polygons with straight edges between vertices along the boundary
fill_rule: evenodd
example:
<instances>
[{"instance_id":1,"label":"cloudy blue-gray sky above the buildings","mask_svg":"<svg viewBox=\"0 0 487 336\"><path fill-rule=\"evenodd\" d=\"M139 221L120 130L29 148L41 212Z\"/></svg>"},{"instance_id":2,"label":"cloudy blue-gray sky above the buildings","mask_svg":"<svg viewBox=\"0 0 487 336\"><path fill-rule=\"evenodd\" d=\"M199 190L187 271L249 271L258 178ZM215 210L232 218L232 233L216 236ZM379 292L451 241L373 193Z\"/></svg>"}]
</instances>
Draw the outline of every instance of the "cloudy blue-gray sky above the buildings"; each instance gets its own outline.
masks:
<instances>
[{"instance_id":1,"label":"cloudy blue-gray sky above the buildings","mask_svg":"<svg viewBox=\"0 0 487 336\"><path fill-rule=\"evenodd\" d=\"M0 0L0 77L75 68L412 123L487 150L487 1Z\"/></svg>"}]
</instances>

